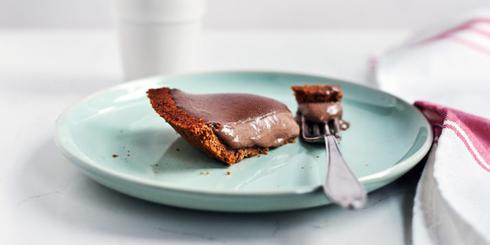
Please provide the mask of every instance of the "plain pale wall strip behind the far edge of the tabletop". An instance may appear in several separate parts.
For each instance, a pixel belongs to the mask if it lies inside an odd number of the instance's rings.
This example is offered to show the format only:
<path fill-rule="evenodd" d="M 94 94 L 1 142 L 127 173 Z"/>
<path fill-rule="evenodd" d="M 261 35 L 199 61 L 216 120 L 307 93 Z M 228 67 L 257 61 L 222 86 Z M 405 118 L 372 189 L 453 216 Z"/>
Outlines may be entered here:
<path fill-rule="evenodd" d="M 110 0 L 0 0 L 0 27 L 112 27 Z M 208 0 L 204 29 L 417 29 L 487 0 Z"/>

